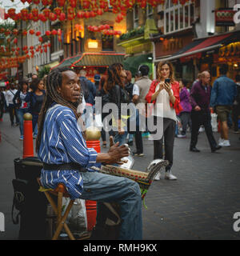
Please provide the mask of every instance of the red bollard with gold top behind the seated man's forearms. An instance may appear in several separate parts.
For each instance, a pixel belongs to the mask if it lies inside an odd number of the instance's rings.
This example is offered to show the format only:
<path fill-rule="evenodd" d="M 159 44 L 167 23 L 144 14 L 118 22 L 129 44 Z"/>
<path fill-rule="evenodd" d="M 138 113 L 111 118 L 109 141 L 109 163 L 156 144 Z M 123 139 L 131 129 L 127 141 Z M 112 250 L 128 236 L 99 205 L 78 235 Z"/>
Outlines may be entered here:
<path fill-rule="evenodd" d="M 94 148 L 98 153 L 101 152 L 101 146 L 99 139 L 101 138 L 101 132 L 97 127 L 89 127 L 86 129 L 86 146 L 88 148 Z M 93 230 L 96 224 L 97 217 L 97 202 L 86 200 L 86 217 L 87 217 L 87 230 Z"/>

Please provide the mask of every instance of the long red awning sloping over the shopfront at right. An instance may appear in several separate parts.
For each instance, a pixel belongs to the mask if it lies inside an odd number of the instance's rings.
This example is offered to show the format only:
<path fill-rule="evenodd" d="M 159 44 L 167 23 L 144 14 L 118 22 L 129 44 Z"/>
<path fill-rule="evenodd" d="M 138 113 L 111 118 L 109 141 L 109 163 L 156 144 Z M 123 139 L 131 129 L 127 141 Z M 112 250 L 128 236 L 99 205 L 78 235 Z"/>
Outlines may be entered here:
<path fill-rule="evenodd" d="M 186 61 L 190 58 L 201 58 L 202 52 L 206 52 L 209 50 L 215 50 L 220 48 L 222 45 L 227 44 L 229 42 L 236 42 L 239 40 L 238 33 L 229 33 L 229 34 L 221 34 L 217 36 L 213 36 L 210 38 L 201 38 L 191 42 L 189 45 L 179 50 L 177 53 L 173 54 L 169 58 L 159 58 L 155 60 L 155 62 L 159 61 L 171 61 L 176 58 L 181 58 L 182 61 Z"/>

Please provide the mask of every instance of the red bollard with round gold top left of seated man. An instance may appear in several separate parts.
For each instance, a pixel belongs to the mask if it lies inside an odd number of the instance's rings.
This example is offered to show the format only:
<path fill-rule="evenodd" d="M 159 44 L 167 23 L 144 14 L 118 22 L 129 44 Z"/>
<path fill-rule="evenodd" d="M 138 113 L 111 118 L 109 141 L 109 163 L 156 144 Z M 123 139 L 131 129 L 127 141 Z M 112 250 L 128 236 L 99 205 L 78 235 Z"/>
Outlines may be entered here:
<path fill-rule="evenodd" d="M 23 115 L 23 155 L 22 158 L 34 157 L 34 139 L 32 115 L 26 113 Z"/>

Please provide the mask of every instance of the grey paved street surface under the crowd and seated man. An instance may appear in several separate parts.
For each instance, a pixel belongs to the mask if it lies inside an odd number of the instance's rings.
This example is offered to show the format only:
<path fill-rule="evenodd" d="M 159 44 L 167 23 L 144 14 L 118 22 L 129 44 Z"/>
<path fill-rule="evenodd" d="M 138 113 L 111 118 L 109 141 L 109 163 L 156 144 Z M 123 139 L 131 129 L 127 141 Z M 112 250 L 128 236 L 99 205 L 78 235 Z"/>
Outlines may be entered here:
<path fill-rule="evenodd" d="M 19 226 L 11 221 L 11 182 L 14 158 L 22 158 L 23 143 L 19 141 L 19 128 L 10 126 L 8 114 L 0 122 L 0 130 L 0 212 L 5 214 L 5 232 L 0 232 L 0 239 L 18 239 Z M 218 133 L 214 137 L 218 140 Z M 147 209 L 142 206 L 143 239 L 240 239 L 240 231 L 234 231 L 234 213 L 240 213 L 239 137 L 230 130 L 231 146 L 218 153 L 210 152 L 204 132 L 198 137 L 200 153 L 189 151 L 190 134 L 175 139 L 172 173 L 178 180 L 165 180 L 162 175 L 150 186 L 145 199 Z M 135 158 L 134 170 L 146 170 L 153 160 L 153 142 L 147 138 L 143 142 L 145 156 Z M 240 228 L 240 223 L 235 226 Z"/>

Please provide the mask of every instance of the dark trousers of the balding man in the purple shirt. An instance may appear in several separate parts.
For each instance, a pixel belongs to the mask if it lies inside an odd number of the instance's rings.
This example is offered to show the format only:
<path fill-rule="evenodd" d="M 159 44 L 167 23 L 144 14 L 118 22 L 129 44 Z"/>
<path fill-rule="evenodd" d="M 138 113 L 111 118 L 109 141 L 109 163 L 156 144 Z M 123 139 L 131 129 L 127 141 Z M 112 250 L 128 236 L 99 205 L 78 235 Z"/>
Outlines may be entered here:
<path fill-rule="evenodd" d="M 198 130 L 200 126 L 204 126 L 206 131 L 206 137 L 210 144 L 211 150 L 213 150 L 217 146 L 217 142 L 215 141 L 212 126 L 211 126 L 211 116 L 210 111 L 192 111 L 191 112 L 191 120 L 192 120 L 192 132 L 191 132 L 191 141 L 190 148 L 194 148 L 198 143 Z"/>

